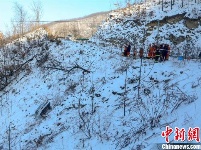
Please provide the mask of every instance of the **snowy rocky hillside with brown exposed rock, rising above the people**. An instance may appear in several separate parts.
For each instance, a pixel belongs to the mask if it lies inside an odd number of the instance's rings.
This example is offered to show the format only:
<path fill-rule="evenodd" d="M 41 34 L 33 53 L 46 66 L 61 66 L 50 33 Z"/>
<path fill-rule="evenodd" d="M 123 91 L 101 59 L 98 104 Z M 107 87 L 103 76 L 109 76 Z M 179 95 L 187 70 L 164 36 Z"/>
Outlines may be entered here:
<path fill-rule="evenodd" d="M 199 1 L 147 0 L 129 7 L 114 10 L 94 37 L 122 46 L 126 41 L 133 47 L 148 48 L 151 43 L 167 43 L 174 53 L 188 50 L 197 55 L 201 42 L 201 3 Z M 192 56 L 195 57 L 195 56 Z"/>

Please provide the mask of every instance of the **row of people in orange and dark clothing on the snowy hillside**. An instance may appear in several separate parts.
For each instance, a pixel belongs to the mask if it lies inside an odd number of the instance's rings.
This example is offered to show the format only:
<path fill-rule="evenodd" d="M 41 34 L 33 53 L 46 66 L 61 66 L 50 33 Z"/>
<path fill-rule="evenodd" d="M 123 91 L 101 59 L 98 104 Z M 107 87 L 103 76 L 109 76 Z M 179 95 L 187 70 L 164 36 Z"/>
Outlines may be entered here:
<path fill-rule="evenodd" d="M 130 43 L 127 43 L 124 46 L 124 56 L 130 56 L 130 51 L 131 51 L 131 45 Z M 137 53 L 139 53 L 140 58 L 144 58 L 144 49 L 140 48 L 139 52 L 137 50 L 133 50 L 133 57 L 137 57 Z M 156 44 L 150 44 L 148 47 L 148 59 L 154 59 L 155 62 L 158 61 L 165 61 L 169 59 L 169 54 L 170 54 L 170 46 L 168 44 L 161 44 L 157 46 Z"/>

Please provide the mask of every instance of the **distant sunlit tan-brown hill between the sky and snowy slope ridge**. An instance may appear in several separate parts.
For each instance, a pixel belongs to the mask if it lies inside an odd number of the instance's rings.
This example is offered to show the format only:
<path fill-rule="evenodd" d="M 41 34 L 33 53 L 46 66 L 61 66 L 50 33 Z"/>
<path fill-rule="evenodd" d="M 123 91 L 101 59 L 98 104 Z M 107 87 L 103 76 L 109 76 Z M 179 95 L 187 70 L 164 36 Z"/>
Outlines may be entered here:
<path fill-rule="evenodd" d="M 47 25 L 49 31 L 57 37 L 89 38 L 107 18 L 109 12 L 95 13 L 83 18 L 64 20 Z"/>

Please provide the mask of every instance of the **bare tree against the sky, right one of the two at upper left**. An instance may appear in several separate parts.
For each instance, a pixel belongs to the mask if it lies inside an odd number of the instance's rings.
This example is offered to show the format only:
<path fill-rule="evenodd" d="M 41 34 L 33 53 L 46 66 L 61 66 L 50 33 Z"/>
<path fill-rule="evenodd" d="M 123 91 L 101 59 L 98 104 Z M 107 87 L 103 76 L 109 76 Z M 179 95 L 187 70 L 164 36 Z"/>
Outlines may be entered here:
<path fill-rule="evenodd" d="M 34 0 L 31 5 L 31 10 L 33 12 L 35 27 L 37 28 L 40 25 L 40 21 L 43 15 L 43 5 L 40 0 Z"/>

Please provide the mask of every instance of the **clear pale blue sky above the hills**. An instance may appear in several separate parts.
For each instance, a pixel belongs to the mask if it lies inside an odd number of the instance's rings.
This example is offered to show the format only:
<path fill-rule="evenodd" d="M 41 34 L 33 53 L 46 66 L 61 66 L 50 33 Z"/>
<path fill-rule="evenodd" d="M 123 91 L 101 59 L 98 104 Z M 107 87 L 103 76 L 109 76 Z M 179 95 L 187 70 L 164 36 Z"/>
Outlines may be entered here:
<path fill-rule="evenodd" d="M 35 0 L 38 1 L 38 0 Z M 71 19 L 89 15 L 95 12 L 115 9 L 117 2 L 124 0 L 40 0 L 43 5 L 44 21 Z M 9 30 L 11 18 L 14 17 L 14 3 L 22 5 L 31 14 L 33 0 L 0 0 L 0 31 Z"/>

